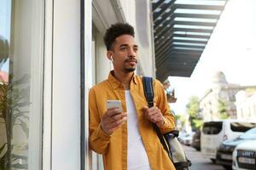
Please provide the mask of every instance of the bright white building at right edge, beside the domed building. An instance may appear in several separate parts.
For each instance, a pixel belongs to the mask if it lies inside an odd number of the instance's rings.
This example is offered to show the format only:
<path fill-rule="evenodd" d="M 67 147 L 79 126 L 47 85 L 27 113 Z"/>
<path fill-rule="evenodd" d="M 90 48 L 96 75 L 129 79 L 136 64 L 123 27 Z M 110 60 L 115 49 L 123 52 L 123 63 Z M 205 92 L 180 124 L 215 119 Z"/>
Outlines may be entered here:
<path fill-rule="evenodd" d="M 241 90 L 236 94 L 237 118 L 256 121 L 256 90 Z"/>

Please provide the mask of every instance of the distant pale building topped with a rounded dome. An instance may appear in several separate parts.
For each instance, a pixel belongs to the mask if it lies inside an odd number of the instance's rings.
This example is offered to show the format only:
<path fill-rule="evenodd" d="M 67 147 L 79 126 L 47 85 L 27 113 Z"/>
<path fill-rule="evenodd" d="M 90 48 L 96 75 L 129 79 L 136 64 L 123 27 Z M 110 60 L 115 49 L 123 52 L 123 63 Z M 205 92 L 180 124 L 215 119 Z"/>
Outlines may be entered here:
<path fill-rule="evenodd" d="M 206 94 L 200 99 L 200 111 L 204 121 L 219 120 L 218 105 L 222 101 L 227 106 L 227 113 L 230 118 L 236 118 L 236 93 L 247 88 L 256 88 L 256 86 L 241 86 L 227 82 L 224 73 L 218 71 L 212 80 L 212 88 L 208 89 Z"/>

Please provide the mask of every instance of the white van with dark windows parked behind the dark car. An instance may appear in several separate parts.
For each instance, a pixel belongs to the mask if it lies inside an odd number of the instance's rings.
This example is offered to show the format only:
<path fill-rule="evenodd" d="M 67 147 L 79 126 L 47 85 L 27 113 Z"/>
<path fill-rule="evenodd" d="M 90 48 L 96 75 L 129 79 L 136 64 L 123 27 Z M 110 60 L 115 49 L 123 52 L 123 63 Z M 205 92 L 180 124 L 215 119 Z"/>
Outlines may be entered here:
<path fill-rule="evenodd" d="M 236 139 L 248 129 L 256 127 L 256 122 L 224 120 L 204 122 L 201 128 L 201 154 L 213 162 L 219 145 L 227 139 Z"/>

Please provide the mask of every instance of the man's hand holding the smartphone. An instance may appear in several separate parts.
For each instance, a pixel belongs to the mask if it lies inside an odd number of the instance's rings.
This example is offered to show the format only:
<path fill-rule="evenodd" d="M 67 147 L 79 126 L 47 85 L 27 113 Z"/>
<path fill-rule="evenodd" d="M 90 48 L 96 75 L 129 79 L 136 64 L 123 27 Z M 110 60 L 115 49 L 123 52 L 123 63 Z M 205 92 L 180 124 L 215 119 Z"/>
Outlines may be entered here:
<path fill-rule="evenodd" d="M 103 116 L 101 126 L 105 133 L 112 134 L 127 120 L 127 113 L 120 113 L 118 108 L 109 109 Z"/>

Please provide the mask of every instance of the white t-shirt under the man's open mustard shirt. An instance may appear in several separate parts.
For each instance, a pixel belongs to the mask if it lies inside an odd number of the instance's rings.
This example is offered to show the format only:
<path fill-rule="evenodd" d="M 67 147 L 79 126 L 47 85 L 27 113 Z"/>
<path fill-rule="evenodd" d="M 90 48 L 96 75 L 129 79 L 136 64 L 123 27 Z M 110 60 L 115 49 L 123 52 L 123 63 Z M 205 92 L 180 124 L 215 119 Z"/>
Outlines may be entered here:
<path fill-rule="evenodd" d="M 125 103 L 128 116 L 127 168 L 128 170 L 150 170 L 143 139 L 138 130 L 137 111 L 130 90 L 125 90 Z"/>

